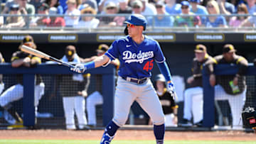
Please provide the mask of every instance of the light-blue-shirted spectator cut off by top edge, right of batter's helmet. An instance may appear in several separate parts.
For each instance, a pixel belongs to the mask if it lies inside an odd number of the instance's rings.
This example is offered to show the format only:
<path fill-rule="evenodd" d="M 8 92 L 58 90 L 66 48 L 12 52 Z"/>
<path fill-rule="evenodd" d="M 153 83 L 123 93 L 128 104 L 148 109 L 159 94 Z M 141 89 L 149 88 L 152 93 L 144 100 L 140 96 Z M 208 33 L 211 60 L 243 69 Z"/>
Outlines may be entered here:
<path fill-rule="evenodd" d="M 176 0 L 165 0 L 166 2 L 166 12 L 169 14 L 179 14 L 181 13 L 181 4 L 177 4 Z"/>

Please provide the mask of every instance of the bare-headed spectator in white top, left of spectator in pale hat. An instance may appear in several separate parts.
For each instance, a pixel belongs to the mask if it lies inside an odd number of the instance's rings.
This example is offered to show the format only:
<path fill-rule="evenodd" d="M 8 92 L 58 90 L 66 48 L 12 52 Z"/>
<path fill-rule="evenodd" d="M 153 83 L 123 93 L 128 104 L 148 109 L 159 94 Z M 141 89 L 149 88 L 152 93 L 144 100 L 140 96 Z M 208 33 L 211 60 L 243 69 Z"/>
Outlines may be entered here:
<path fill-rule="evenodd" d="M 80 11 L 77 9 L 77 1 L 75 0 L 68 0 L 68 9 L 65 12 L 65 25 L 67 27 L 73 27 L 78 25 L 79 18 L 80 18 Z"/>

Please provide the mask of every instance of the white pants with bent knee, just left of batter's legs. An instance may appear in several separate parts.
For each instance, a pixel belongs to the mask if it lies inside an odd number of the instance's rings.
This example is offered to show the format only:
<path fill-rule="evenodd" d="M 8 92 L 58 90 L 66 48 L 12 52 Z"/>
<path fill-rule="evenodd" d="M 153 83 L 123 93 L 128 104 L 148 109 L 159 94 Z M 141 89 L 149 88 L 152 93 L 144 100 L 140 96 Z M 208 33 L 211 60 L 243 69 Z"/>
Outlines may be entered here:
<path fill-rule="evenodd" d="M 86 110 L 88 116 L 88 125 L 96 126 L 97 118 L 96 118 L 96 105 L 103 104 L 102 95 L 100 92 L 93 92 L 86 99 Z"/>

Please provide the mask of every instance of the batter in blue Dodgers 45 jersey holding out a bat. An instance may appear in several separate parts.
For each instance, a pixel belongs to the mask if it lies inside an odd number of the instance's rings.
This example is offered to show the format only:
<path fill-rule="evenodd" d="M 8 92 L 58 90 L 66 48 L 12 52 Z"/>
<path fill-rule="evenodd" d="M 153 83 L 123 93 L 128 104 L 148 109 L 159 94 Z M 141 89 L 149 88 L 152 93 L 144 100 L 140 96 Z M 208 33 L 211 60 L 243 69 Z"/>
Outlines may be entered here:
<path fill-rule="evenodd" d="M 167 91 L 175 94 L 171 73 L 159 43 L 142 34 L 146 30 L 146 18 L 140 14 L 132 14 L 124 23 L 127 23 L 129 35 L 114 40 L 105 55 L 85 65 L 76 65 L 71 70 L 84 72 L 105 66 L 115 58 L 121 63 L 114 96 L 114 118 L 105 128 L 101 144 L 111 142 L 117 129 L 127 121 L 129 109 L 134 101 L 151 117 L 156 143 L 164 143 L 164 112 L 149 77 L 155 61 L 167 81 Z"/>

